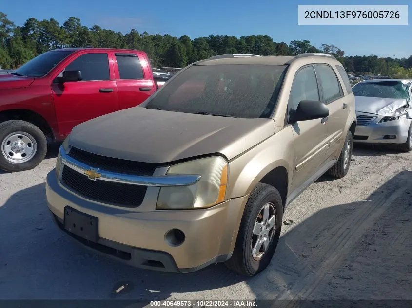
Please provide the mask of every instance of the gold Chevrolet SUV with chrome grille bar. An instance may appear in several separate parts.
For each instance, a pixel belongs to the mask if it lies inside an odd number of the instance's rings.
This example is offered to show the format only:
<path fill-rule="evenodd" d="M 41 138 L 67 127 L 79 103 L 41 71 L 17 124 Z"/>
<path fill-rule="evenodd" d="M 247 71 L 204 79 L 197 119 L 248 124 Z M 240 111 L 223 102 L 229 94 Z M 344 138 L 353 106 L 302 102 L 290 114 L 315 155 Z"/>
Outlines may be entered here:
<path fill-rule="evenodd" d="M 266 268 L 286 206 L 346 175 L 356 127 L 331 55 L 221 55 L 189 65 L 138 107 L 78 125 L 47 175 L 63 231 L 127 264 L 193 272 Z"/>

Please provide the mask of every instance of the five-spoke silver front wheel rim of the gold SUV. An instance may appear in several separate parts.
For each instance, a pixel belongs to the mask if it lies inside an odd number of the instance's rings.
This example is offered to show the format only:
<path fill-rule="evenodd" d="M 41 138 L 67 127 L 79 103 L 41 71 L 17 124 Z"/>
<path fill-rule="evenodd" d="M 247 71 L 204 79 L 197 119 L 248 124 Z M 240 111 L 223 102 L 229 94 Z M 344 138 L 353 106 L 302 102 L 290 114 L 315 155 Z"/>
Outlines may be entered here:
<path fill-rule="evenodd" d="M 252 234 L 252 256 L 259 261 L 268 251 L 275 234 L 275 206 L 267 203 L 262 206 L 256 217 Z"/>

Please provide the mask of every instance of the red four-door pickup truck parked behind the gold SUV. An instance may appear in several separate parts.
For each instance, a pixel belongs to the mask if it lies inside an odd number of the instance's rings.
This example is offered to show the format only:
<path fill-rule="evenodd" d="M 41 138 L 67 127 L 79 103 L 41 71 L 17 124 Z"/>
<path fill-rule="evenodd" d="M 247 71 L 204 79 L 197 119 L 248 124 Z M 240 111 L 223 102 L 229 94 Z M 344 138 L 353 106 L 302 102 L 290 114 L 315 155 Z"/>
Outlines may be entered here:
<path fill-rule="evenodd" d="M 0 75 L 0 169 L 34 168 L 46 137 L 61 141 L 84 121 L 137 106 L 163 83 L 144 52 L 123 49 L 52 50 Z"/>

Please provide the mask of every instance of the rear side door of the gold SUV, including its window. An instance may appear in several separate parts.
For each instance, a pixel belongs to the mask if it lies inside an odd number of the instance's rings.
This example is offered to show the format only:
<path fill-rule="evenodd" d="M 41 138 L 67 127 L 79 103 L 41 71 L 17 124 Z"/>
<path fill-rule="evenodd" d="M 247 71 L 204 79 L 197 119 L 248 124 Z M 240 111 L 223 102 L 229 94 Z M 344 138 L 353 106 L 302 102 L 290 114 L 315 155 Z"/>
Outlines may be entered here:
<path fill-rule="evenodd" d="M 316 75 L 319 80 L 322 102 L 329 109 L 328 121 L 325 123 L 327 130 L 328 150 L 325 159 L 331 156 L 337 158 L 340 154 L 344 129 L 349 116 L 349 97 L 344 96 L 342 85 L 334 69 L 328 64 L 316 64 Z M 338 72 L 339 73 L 339 72 Z"/>

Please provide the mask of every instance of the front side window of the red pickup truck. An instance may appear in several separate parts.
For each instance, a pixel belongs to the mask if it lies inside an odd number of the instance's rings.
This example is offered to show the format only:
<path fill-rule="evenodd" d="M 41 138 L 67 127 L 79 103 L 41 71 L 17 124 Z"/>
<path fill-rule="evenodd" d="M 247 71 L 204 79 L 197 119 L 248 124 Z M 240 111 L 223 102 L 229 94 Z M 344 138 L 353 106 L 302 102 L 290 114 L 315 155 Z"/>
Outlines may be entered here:
<path fill-rule="evenodd" d="M 66 71 L 81 71 L 82 81 L 110 80 L 106 53 L 82 54 L 66 66 Z"/>

